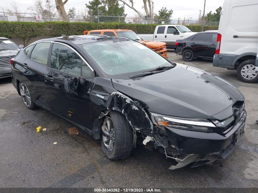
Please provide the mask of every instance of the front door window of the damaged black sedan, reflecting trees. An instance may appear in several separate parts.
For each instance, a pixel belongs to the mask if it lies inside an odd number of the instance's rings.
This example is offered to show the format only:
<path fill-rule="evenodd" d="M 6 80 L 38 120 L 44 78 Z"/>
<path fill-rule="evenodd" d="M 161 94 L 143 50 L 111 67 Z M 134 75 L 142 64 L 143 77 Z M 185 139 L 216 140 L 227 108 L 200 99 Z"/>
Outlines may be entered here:
<path fill-rule="evenodd" d="M 53 44 L 50 64 L 53 69 L 75 76 L 81 75 L 81 57 L 65 45 Z"/>

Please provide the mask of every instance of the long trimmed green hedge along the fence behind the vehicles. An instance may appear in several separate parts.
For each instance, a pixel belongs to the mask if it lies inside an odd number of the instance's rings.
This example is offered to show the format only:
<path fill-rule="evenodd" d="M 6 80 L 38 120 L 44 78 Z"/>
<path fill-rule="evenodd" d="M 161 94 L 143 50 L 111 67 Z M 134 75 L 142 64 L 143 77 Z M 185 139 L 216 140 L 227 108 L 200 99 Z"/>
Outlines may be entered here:
<path fill-rule="evenodd" d="M 130 23 L 85 23 L 85 22 L 0 22 L 0 37 L 26 38 L 38 36 L 83 35 L 84 30 L 130 29 L 137 34 L 154 33 L 156 24 Z M 190 30 L 200 32 L 202 26 L 187 26 Z M 204 30 L 217 30 L 218 26 L 204 26 Z"/>

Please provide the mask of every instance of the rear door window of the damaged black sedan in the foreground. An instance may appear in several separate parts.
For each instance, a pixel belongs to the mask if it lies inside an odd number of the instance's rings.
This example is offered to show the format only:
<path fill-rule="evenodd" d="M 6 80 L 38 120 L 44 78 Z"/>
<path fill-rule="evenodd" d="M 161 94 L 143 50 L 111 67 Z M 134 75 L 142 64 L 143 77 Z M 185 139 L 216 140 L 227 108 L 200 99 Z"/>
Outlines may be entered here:
<path fill-rule="evenodd" d="M 47 65 L 50 42 L 37 43 L 31 52 L 31 60 Z"/>

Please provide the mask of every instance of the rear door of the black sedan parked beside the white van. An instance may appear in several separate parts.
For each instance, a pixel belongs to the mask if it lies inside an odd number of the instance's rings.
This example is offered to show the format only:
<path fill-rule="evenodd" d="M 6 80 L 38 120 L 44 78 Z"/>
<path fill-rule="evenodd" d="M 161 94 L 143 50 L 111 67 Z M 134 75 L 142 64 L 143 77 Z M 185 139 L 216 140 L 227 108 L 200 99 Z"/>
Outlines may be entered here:
<path fill-rule="evenodd" d="M 200 33 L 190 41 L 196 57 L 209 57 L 210 38 L 210 33 Z"/>

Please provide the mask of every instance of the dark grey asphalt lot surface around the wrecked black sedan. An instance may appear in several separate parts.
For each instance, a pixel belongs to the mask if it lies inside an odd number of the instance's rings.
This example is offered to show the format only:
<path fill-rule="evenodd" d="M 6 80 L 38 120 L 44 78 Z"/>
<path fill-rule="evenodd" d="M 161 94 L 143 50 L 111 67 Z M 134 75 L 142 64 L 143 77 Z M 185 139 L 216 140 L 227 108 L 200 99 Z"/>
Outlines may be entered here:
<path fill-rule="evenodd" d="M 226 79 L 245 95 L 245 134 L 226 160 L 168 170 L 176 162 L 139 144 L 127 159 L 109 160 L 83 130 L 69 132 L 75 126 L 59 116 L 27 109 L 8 78 L 0 80 L 0 187 L 258 187 L 258 83 L 243 83 L 212 60 L 185 62 L 173 49 L 168 56 Z M 46 130 L 37 133 L 38 126 Z"/>

